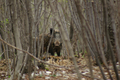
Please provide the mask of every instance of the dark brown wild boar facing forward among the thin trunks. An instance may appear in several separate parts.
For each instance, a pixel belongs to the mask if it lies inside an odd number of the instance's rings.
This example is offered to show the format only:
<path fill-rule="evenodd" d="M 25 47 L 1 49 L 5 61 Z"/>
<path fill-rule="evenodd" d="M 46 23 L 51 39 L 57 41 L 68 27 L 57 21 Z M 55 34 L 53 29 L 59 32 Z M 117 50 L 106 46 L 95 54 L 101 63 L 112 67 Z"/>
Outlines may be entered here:
<path fill-rule="evenodd" d="M 41 42 L 43 34 L 39 36 L 39 41 Z M 50 33 L 44 34 L 44 52 L 47 52 L 47 47 L 50 42 L 50 39 L 52 37 L 50 46 L 49 46 L 49 51 L 48 53 L 51 53 L 52 56 L 54 56 L 54 53 L 56 52 L 58 56 L 60 56 L 60 51 L 62 49 L 62 41 L 61 41 L 61 36 L 59 31 L 55 31 L 53 28 L 50 28 Z M 38 40 L 38 38 L 36 39 Z M 38 41 L 37 41 L 38 42 Z M 37 48 L 39 49 L 39 48 Z M 42 52 L 42 50 L 41 50 Z M 38 57 L 38 52 L 37 52 L 37 57 Z"/>

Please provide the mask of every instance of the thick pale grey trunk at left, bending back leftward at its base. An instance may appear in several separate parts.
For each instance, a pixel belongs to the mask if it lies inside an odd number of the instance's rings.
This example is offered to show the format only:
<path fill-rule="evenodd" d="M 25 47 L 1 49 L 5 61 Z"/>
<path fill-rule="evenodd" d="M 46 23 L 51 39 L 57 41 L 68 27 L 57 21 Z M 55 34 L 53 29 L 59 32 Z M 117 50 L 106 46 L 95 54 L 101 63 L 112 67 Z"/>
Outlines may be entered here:
<path fill-rule="evenodd" d="M 20 41 L 20 30 L 18 28 L 18 23 L 17 23 L 18 18 L 17 18 L 16 0 L 14 0 L 13 6 L 14 6 L 14 8 L 13 8 L 14 13 L 13 13 L 12 21 L 13 21 L 13 33 L 14 33 L 14 37 L 15 37 L 15 45 L 16 45 L 17 48 L 22 49 L 22 45 L 21 45 L 21 41 Z M 16 80 L 19 73 L 20 73 L 22 63 L 23 63 L 22 62 L 23 61 L 23 52 L 17 50 L 17 57 L 18 57 L 18 60 L 17 60 L 17 65 L 15 67 L 15 72 L 14 72 L 14 75 L 12 75 L 10 77 L 10 80 Z"/>

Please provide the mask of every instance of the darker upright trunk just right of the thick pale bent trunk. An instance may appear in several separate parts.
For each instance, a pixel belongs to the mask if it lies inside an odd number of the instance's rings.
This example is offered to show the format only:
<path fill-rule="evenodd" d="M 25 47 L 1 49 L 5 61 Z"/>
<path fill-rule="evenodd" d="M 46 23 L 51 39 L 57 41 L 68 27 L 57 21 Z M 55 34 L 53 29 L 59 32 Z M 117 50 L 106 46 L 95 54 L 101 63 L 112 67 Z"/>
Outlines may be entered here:
<path fill-rule="evenodd" d="M 25 0 L 26 9 L 27 9 L 27 15 L 28 15 L 28 26 L 29 26 L 29 52 L 32 53 L 32 27 L 34 27 L 34 19 L 32 14 L 32 7 L 31 7 L 31 1 Z M 27 26 L 27 27 L 28 27 Z M 30 75 L 32 73 L 32 57 L 28 56 L 28 76 L 30 79 Z M 31 80 L 31 79 L 30 79 Z"/>

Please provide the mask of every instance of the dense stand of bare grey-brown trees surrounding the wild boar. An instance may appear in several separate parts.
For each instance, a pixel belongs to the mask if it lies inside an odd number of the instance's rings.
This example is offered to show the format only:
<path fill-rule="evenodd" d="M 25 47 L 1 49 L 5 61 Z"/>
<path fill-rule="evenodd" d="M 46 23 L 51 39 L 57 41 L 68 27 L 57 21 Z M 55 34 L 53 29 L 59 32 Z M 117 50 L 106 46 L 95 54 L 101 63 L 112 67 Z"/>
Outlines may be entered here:
<path fill-rule="evenodd" d="M 4 78 L 21 80 L 26 67 L 31 79 L 32 67 L 37 61 L 66 69 L 34 56 L 36 42 L 33 37 L 48 33 L 54 27 L 62 36 L 61 59 L 73 62 L 71 70 L 77 73 L 75 79 L 83 79 L 79 71 L 82 64 L 77 61 L 81 59 L 89 69 L 88 80 L 95 77 L 119 80 L 119 5 L 119 0 L 0 0 L 0 64 L 6 61 L 4 72 L 7 72 Z M 93 72 L 93 63 L 99 67 L 100 78 Z"/>

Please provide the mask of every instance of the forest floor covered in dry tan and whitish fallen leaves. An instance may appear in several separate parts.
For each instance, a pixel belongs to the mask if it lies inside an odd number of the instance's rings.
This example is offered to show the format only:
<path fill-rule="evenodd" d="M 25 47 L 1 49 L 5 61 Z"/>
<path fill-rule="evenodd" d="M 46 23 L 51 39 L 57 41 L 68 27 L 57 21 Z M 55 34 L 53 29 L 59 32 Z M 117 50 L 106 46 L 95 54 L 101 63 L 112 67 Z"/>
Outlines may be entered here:
<path fill-rule="evenodd" d="M 93 80 L 90 75 L 87 58 L 81 57 L 81 58 L 76 58 L 76 60 L 79 66 L 79 72 L 81 73 L 81 78 L 82 78 L 81 80 Z M 37 69 L 35 74 L 34 73 L 31 74 L 31 77 L 35 75 L 34 80 L 78 80 L 77 73 L 75 73 L 74 64 L 70 59 L 62 59 L 61 57 L 59 58 L 54 57 L 49 59 L 47 62 L 57 66 L 64 66 L 64 68 L 45 65 L 46 66 L 45 69 Z M 109 64 L 109 68 L 113 80 L 116 80 L 112 64 Z M 101 80 L 102 75 L 99 66 L 95 65 L 94 61 L 92 61 L 92 69 L 93 69 L 94 80 Z M 102 69 L 104 71 L 107 80 L 110 80 L 107 69 L 105 69 L 103 65 L 102 65 Z M 1 79 L 7 80 L 7 78 L 9 77 L 6 76 L 7 75 L 6 70 L 7 70 L 6 60 L 0 61 L 0 80 Z M 29 80 L 27 74 L 23 75 L 23 80 Z"/>

